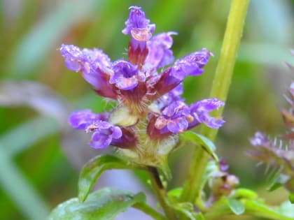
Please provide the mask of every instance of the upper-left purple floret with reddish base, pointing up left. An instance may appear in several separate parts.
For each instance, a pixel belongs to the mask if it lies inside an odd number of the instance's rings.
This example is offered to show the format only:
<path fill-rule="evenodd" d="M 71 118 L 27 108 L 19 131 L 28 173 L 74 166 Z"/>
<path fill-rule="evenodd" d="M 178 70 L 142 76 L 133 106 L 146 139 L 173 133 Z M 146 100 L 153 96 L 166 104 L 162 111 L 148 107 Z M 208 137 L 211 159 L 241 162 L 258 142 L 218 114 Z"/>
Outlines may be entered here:
<path fill-rule="evenodd" d="M 65 65 L 69 70 L 80 72 L 83 78 L 90 83 L 97 94 L 116 98 L 116 91 L 109 85 L 109 77 L 113 74 L 109 57 L 102 50 L 80 50 L 74 45 L 60 47 L 60 52 L 65 58 Z"/>

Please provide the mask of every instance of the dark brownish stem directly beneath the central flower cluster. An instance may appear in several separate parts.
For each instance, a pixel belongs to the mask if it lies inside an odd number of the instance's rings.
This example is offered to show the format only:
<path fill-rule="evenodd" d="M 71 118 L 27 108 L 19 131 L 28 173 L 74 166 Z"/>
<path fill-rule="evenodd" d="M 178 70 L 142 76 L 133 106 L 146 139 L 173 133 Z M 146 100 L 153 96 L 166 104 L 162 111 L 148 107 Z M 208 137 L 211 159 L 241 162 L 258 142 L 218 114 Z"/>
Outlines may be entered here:
<path fill-rule="evenodd" d="M 162 185 L 162 182 L 160 180 L 158 169 L 149 166 L 148 173 L 151 179 L 153 190 L 155 191 L 155 195 L 158 198 L 158 201 L 162 206 L 162 209 L 164 210 L 167 219 L 176 220 L 176 213 L 174 212 L 174 210 L 172 210 L 171 207 L 169 207 L 169 205 L 167 205 L 167 202 L 165 201 L 165 198 L 167 198 L 167 193 L 165 191 L 165 187 Z"/>

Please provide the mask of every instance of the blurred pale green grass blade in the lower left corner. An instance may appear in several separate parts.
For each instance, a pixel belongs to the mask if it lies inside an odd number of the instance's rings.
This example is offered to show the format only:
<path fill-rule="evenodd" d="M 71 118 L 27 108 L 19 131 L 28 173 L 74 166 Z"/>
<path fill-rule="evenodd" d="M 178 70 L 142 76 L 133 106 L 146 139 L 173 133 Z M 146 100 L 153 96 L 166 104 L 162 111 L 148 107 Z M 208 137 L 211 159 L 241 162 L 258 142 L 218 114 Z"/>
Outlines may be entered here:
<path fill-rule="evenodd" d="M 48 207 L 40 198 L 27 179 L 15 167 L 10 158 L 0 145 L 0 185 L 8 196 L 18 206 L 20 211 L 31 220 L 45 219 L 48 215 Z"/>

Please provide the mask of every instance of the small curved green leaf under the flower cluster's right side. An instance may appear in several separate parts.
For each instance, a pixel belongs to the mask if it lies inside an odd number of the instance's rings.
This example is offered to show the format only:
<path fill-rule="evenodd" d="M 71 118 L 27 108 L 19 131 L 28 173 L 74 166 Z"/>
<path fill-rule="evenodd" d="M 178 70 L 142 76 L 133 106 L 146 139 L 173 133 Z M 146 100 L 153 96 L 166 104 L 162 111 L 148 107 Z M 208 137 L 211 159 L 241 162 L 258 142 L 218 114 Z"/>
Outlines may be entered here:
<path fill-rule="evenodd" d="M 216 146 L 211 140 L 195 133 L 193 131 L 186 131 L 179 135 L 181 144 L 185 142 L 193 142 L 193 144 L 202 147 L 215 161 L 218 161 L 218 156 L 216 155 Z"/>

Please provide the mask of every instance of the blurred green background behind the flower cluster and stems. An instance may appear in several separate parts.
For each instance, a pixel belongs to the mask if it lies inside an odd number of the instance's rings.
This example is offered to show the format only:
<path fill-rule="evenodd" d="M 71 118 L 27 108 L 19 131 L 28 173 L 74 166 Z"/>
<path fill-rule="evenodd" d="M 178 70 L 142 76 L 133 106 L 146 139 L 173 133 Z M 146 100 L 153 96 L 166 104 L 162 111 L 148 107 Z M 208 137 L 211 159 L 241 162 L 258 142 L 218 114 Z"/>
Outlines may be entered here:
<path fill-rule="evenodd" d="M 126 57 L 129 39 L 121 30 L 132 5 L 145 10 L 156 24 L 155 33 L 179 33 L 172 47 L 176 58 L 202 47 L 214 52 L 204 74 L 184 82 L 188 103 L 207 98 L 229 0 L 1 1 L 0 219 L 45 219 L 52 207 L 76 196 L 80 166 L 100 152 L 69 128 L 66 117 L 73 109 L 103 111 L 111 104 L 64 67 L 58 48 L 62 43 L 99 47 L 112 60 Z M 251 1 L 225 107 L 226 124 L 216 142 L 241 186 L 256 189 L 272 205 L 286 200 L 286 193 L 267 193 L 270 174 L 244 151 L 257 130 L 271 136 L 284 132 L 279 108 L 288 107 L 283 94 L 294 79 L 284 64 L 294 64 L 289 52 L 293 27 L 294 1 Z M 169 187 L 182 184 L 191 150 L 170 157 L 174 178 Z M 146 185 L 144 175 L 136 175 Z"/>

